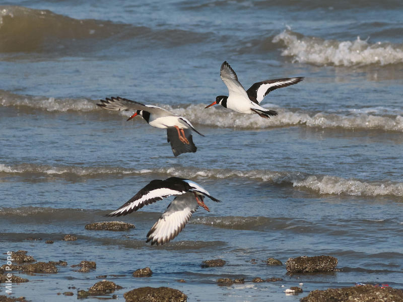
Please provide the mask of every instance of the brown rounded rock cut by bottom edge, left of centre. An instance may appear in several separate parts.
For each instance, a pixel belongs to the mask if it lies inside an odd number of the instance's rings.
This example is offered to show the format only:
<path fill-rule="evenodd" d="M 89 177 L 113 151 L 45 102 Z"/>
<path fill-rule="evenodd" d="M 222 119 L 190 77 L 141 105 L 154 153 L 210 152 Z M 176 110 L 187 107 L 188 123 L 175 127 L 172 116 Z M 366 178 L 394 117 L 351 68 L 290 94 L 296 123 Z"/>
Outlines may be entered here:
<path fill-rule="evenodd" d="M 140 287 L 123 294 L 126 302 L 186 302 L 187 296 L 169 287 Z"/>

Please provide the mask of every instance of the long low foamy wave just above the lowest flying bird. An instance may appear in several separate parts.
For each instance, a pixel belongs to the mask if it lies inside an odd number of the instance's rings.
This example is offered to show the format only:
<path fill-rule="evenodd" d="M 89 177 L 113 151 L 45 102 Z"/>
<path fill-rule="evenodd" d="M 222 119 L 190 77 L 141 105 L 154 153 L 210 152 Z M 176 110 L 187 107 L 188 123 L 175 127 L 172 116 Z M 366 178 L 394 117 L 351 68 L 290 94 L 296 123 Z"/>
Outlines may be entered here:
<path fill-rule="evenodd" d="M 403 183 L 391 181 L 367 182 L 357 179 L 346 179 L 329 175 L 309 175 L 300 172 L 282 172 L 270 170 L 231 170 L 231 169 L 197 169 L 194 167 L 167 167 L 156 169 L 129 169 L 120 167 L 74 167 L 48 165 L 0 164 L 0 175 L 18 176 L 49 176 L 70 177 L 76 175 L 83 178 L 99 178 L 117 175 L 150 175 L 158 174 L 162 177 L 177 176 L 188 179 L 231 179 L 241 178 L 277 185 L 291 185 L 301 190 L 307 190 L 319 195 L 350 195 L 350 196 L 403 196 Z"/>

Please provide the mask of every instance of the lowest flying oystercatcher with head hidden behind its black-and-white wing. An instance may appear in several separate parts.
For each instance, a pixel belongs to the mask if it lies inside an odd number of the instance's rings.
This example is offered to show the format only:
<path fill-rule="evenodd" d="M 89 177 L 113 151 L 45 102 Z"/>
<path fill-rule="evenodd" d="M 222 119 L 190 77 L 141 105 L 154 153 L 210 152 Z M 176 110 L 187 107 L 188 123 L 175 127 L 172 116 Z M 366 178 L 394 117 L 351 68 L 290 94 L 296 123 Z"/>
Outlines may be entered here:
<path fill-rule="evenodd" d="M 126 215 L 137 211 L 144 205 L 171 195 L 177 197 L 168 205 L 166 211 L 147 234 L 147 242 L 151 241 L 152 245 L 165 244 L 175 238 L 182 231 L 198 206 L 209 211 L 203 200 L 205 196 L 219 202 L 199 184 L 184 178 L 170 177 L 165 180 L 156 179 L 151 181 L 125 204 L 106 216 Z"/>

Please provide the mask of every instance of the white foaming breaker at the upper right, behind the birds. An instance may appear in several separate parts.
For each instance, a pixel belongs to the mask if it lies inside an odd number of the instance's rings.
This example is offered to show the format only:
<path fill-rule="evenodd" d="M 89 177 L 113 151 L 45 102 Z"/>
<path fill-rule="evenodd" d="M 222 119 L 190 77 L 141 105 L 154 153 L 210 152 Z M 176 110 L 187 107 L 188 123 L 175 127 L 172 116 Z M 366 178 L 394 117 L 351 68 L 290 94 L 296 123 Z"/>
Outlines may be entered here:
<path fill-rule="evenodd" d="M 314 65 L 355 66 L 403 63 L 403 45 L 377 42 L 370 44 L 357 37 L 353 41 L 324 40 L 284 30 L 273 38 L 282 42 L 283 56 L 293 57 L 293 62 Z"/>

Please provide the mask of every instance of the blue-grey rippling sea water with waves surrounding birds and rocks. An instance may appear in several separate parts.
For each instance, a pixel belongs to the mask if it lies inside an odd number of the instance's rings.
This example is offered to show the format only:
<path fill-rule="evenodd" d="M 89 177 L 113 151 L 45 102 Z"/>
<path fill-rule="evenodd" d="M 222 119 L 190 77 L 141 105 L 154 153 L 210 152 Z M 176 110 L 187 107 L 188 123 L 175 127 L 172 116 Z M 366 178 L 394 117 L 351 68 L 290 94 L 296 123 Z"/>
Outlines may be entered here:
<path fill-rule="evenodd" d="M 119 301 L 141 286 L 200 301 L 298 301 L 356 282 L 403 287 L 401 14 L 397 1 L 3 3 L 0 247 L 69 264 L 21 274 L 30 282 L 14 284 L 13 295 L 71 300 L 56 293 L 105 274 L 124 287 Z M 245 88 L 305 80 L 266 97 L 263 107 L 279 112 L 270 120 L 204 109 L 227 93 L 224 60 Z M 110 96 L 172 110 L 206 137 L 194 134 L 197 152 L 175 158 L 165 131 L 95 105 Z M 85 230 L 170 176 L 222 202 L 207 200 L 211 211 L 198 209 L 165 246 L 145 240 L 172 198 L 119 217 L 131 231 Z M 65 234 L 79 239 L 63 242 Z M 339 270 L 288 275 L 264 263 L 301 255 L 337 257 Z M 201 268 L 214 258 L 227 264 Z M 70 267 L 82 260 L 96 270 Z M 131 276 L 146 266 L 151 278 Z M 251 283 L 256 276 L 284 280 Z M 247 282 L 217 286 L 222 277 Z M 304 292 L 286 296 L 299 283 Z"/>

